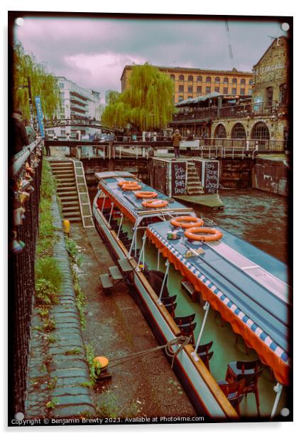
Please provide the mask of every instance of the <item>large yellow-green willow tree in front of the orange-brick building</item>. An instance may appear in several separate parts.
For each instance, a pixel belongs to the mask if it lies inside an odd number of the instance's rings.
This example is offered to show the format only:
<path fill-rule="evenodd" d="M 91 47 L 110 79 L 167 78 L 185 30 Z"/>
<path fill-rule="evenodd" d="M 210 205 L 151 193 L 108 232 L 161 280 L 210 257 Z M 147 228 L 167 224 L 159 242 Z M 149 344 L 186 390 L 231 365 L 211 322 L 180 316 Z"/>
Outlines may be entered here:
<path fill-rule="evenodd" d="M 135 65 L 129 88 L 109 102 L 103 122 L 118 128 L 131 124 L 140 131 L 166 127 L 174 110 L 173 92 L 173 80 L 168 75 L 148 63 Z"/>

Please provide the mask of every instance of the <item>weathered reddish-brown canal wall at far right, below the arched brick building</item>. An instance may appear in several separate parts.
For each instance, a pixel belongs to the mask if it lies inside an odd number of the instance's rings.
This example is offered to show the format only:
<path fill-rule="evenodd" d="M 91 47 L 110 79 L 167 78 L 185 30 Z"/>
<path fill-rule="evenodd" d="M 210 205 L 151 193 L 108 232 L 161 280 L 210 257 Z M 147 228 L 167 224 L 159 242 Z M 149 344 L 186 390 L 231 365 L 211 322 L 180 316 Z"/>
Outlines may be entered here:
<path fill-rule="evenodd" d="M 252 188 L 288 196 L 290 194 L 288 162 L 280 158 L 256 158 L 252 171 Z"/>

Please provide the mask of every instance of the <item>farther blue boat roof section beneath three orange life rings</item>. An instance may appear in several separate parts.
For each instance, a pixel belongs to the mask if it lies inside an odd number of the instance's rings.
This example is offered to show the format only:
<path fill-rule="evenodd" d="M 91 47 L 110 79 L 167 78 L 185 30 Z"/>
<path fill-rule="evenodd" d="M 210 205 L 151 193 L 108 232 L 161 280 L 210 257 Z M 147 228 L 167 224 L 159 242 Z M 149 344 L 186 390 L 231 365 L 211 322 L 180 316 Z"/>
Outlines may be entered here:
<path fill-rule="evenodd" d="M 192 208 L 175 201 L 173 198 L 161 193 L 155 188 L 147 186 L 138 178 L 129 172 L 99 172 L 95 173 L 99 178 L 99 188 L 114 201 L 115 205 L 120 208 L 134 223 L 140 223 L 142 218 L 160 216 L 160 220 L 165 215 L 195 215 Z M 119 186 L 119 181 L 138 181 L 141 185 L 139 191 L 153 191 L 158 194 L 158 200 L 168 201 L 168 205 L 163 208 L 146 208 L 143 207 L 144 199 L 136 198 L 133 191 L 123 191 Z"/>

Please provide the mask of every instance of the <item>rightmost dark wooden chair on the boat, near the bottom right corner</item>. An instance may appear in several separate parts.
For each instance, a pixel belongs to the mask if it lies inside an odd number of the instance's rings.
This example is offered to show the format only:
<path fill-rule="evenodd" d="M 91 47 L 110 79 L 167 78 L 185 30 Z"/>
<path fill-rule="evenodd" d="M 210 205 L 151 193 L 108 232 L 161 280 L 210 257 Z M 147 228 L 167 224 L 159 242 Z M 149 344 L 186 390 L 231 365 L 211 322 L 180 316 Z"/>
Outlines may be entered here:
<path fill-rule="evenodd" d="M 258 379 L 263 373 L 263 364 L 261 360 L 238 360 L 237 362 L 231 362 L 227 365 L 225 380 L 229 383 L 239 382 L 239 380 L 245 379 L 246 385 L 244 388 L 244 395 L 248 395 L 250 392 L 255 394 L 256 407 L 258 416 L 259 412 L 259 393 L 258 393 Z"/>

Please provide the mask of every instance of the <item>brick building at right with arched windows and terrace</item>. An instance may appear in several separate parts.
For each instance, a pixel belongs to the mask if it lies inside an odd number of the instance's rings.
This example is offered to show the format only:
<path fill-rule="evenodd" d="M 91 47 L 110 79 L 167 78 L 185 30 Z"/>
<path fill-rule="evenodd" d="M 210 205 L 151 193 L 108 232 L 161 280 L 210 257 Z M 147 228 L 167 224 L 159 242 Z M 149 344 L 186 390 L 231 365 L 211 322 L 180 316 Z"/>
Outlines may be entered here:
<path fill-rule="evenodd" d="M 288 139 L 290 117 L 290 50 L 288 39 L 275 38 L 258 63 L 253 66 L 251 99 L 236 99 L 213 108 L 188 108 L 174 114 L 172 127 L 182 134 L 187 129 L 196 137 L 243 139 L 259 146 L 282 144 Z M 238 142 L 237 142 L 238 143 Z M 241 144 L 241 141 L 239 141 Z"/>

